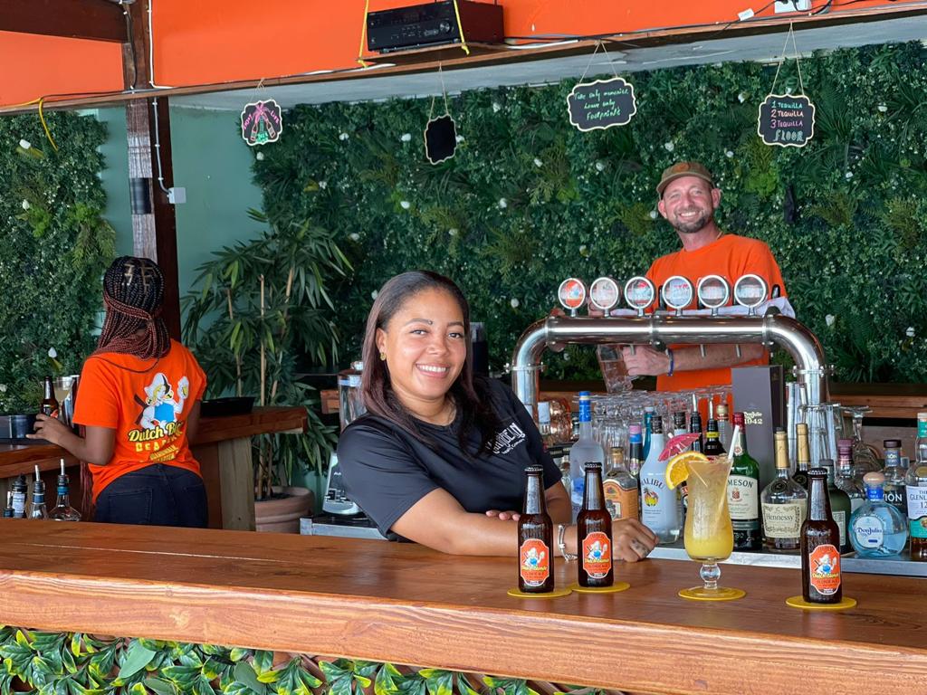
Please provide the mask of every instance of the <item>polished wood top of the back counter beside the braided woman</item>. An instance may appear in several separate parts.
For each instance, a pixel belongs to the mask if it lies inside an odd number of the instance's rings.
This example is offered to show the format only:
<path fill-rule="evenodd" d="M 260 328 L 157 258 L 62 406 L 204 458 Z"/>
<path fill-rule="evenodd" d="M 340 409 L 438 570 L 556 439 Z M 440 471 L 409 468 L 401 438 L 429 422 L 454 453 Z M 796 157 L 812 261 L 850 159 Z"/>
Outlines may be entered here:
<path fill-rule="evenodd" d="M 305 408 L 287 407 L 255 408 L 248 415 L 202 418 L 193 446 L 272 432 L 304 432 L 307 419 Z M 60 459 L 77 463 L 70 453 L 54 444 L 0 444 L 0 477 L 32 473 L 36 464 L 40 470 L 50 471 L 58 467 Z"/>

